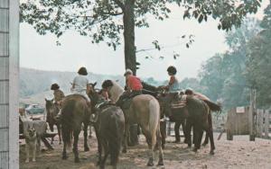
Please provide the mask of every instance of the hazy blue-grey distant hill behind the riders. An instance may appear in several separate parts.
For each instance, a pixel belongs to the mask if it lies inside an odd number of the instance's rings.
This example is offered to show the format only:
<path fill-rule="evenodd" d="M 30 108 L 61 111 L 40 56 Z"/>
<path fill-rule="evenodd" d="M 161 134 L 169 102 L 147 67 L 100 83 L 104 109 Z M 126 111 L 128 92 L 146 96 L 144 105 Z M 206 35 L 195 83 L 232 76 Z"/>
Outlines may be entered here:
<path fill-rule="evenodd" d="M 44 71 L 32 68 L 20 68 L 20 102 L 25 103 L 43 103 L 44 98 L 51 99 L 51 84 L 58 83 L 65 94 L 70 93 L 70 83 L 77 76 L 76 72 Z M 117 80 L 122 86 L 125 85 L 124 76 L 108 76 L 89 73 L 87 76 L 89 82 L 97 82 L 100 88 L 102 82 L 106 79 Z M 145 78 L 145 82 L 159 85 L 164 84 L 157 82 L 154 78 Z"/>

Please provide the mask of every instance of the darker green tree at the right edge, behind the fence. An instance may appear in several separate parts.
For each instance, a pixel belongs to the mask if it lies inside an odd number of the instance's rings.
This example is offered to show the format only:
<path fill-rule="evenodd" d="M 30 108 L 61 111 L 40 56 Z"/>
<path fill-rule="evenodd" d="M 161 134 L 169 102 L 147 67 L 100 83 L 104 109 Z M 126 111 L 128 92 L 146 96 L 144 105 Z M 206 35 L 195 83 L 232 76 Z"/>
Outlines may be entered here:
<path fill-rule="evenodd" d="M 269 108 L 271 102 L 271 4 L 265 9 L 260 23 L 264 29 L 249 41 L 247 80 L 249 87 L 257 89 L 257 106 Z"/>

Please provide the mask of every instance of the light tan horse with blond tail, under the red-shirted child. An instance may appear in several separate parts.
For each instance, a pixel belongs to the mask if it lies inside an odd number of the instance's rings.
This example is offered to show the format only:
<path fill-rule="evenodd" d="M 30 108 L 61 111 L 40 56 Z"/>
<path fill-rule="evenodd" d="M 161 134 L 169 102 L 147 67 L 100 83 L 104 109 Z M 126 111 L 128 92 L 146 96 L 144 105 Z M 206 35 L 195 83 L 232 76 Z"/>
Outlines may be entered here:
<path fill-rule="evenodd" d="M 110 80 L 109 80 L 110 81 Z M 111 97 L 119 96 L 120 93 L 117 91 L 123 91 L 120 85 L 115 83 L 108 83 L 108 80 L 104 81 L 102 86 L 107 88 L 107 92 Z M 122 89 L 122 90 L 117 90 Z M 154 147 L 157 143 L 159 149 L 159 160 L 157 165 L 164 165 L 164 153 L 161 145 L 161 132 L 160 132 L 160 105 L 159 102 L 150 94 L 136 95 L 129 106 L 124 109 L 126 127 L 125 127 L 125 138 L 124 138 L 124 149 L 123 153 L 126 153 L 126 137 L 129 136 L 129 124 L 139 124 L 145 135 L 146 142 L 148 144 L 150 156 L 147 165 L 154 165 Z"/>

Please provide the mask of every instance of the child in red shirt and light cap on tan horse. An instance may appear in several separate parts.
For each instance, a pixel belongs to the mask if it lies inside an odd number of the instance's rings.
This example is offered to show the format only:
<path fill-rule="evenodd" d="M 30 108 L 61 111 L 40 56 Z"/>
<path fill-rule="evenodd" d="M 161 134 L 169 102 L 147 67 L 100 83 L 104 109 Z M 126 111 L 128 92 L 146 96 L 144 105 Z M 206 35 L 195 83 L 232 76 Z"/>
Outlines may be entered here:
<path fill-rule="evenodd" d="M 126 76 L 126 92 L 123 93 L 117 101 L 117 105 L 120 106 L 126 99 L 133 98 L 136 95 L 141 94 L 143 88 L 141 80 L 133 75 L 133 71 L 131 69 L 126 69 L 124 76 Z"/>

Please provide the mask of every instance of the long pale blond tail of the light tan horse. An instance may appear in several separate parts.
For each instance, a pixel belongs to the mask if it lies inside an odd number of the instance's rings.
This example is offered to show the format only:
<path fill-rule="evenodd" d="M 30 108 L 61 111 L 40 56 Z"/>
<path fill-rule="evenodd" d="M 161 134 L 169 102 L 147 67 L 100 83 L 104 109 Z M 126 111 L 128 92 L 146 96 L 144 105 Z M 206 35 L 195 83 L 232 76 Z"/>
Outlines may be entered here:
<path fill-rule="evenodd" d="M 159 102 L 155 99 L 152 99 L 149 102 L 149 110 L 150 110 L 150 116 L 149 116 L 149 129 L 150 134 L 152 138 L 154 138 L 153 144 L 156 143 L 156 130 L 159 128 L 159 120 L 160 120 L 160 106 Z"/>

